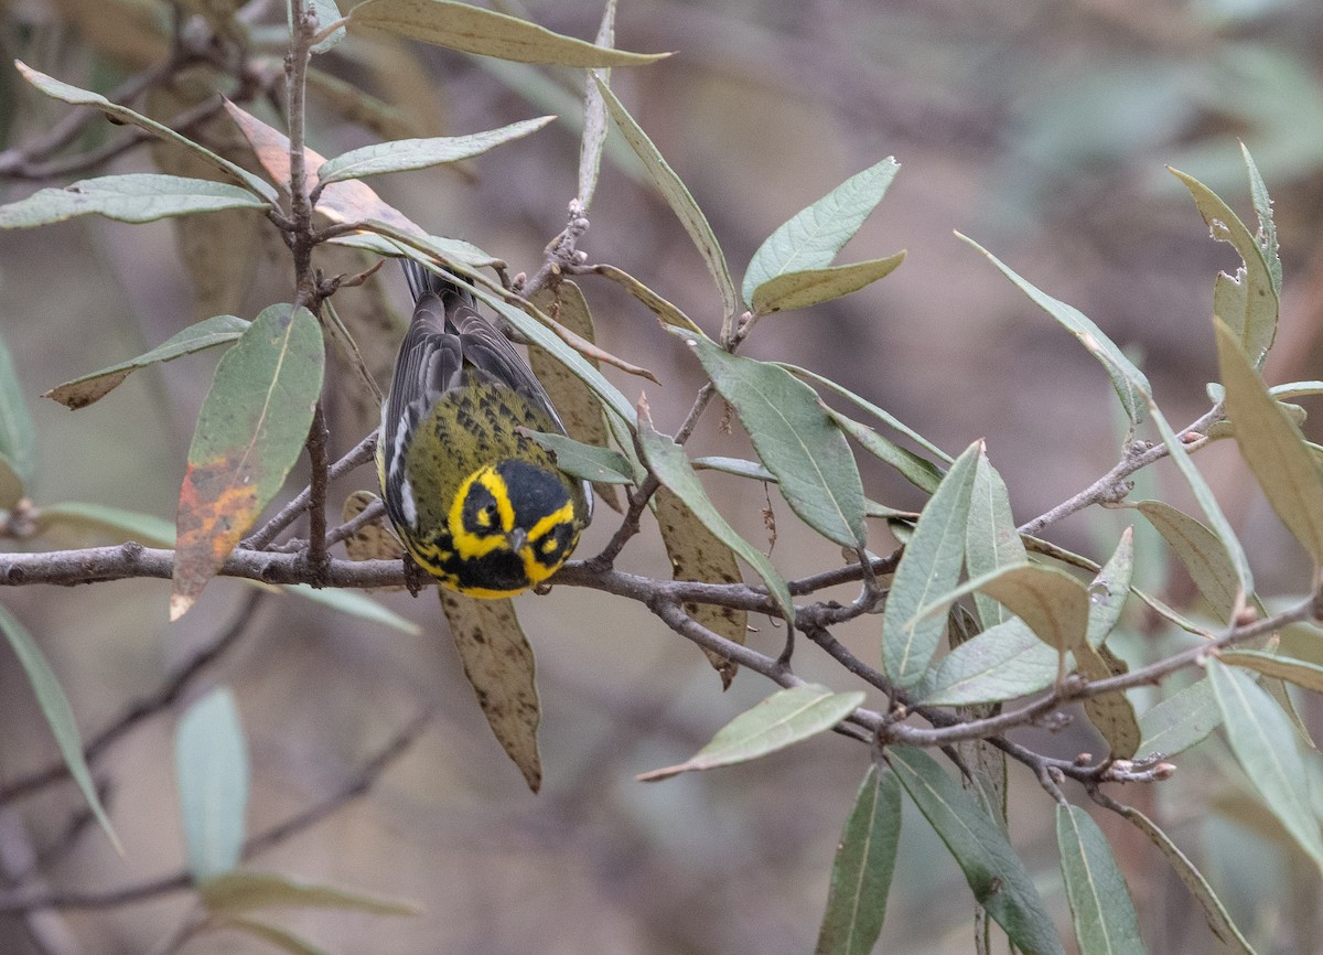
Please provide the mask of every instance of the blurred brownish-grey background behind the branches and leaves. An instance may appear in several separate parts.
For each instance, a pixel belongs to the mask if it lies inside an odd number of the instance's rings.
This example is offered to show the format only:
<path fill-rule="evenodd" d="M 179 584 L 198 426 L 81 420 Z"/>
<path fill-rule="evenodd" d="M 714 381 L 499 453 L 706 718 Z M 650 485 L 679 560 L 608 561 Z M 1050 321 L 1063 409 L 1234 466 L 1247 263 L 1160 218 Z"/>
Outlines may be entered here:
<path fill-rule="evenodd" d="M 270 7 L 258 22 L 283 22 L 282 5 Z M 602 12 L 595 0 L 501 8 L 579 37 L 597 32 Z M 168 54 L 169 22 L 171 9 L 152 0 L 9 0 L 0 4 L 0 58 L 20 57 L 75 85 L 111 90 Z M 261 45 L 274 29 L 253 32 L 259 71 L 280 69 L 275 48 Z M 1316 3 L 622 0 L 617 42 L 676 52 L 654 66 L 614 70 L 613 87 L 705 210 L 737 282 L 762 239 L 792 213 L 885 156 L 900 160 L 889 194 L 843 261 L 905 249 L 901 269 L 831 306 L 765 319 L 746 352 L 833 377 L 953 454 L 986 438 L 1019 521 L 1115 463 L 1122 415 L 1097 362 L 953 230 L 1089 315 L 1142 362 L 1179 427 L 1208 406 L 1204 382 L 1216 374 L 1212 282 L 1238 261 L 1209 239 L 1188 192 L 1164 167 L 1216 189 L 1253 228 L 1237 144 L 1244 140 L 1275 200 L 1286 275 L 1267 378 L 1323 377 L 1323 7 Z M 324 79 L 310 101 L 310 145 L 323 155 L 382 136 L 474 132 L 558 114 L 546 131 L 459 171 L 373 183 L 431 233 L 468 239 L 507 259 L 513 272 L 538 267 L 576 192 L 581 73 L 365 34 L 316 66 Z M 378 104 L 347 115 L 337 82 L 370 93 Z M 217 83 L 233 89 L 233 79 L 216 71 L 193 71 L 147 97 L 148 111 L 175 115 Z M 67 108 L 3 67 L 5 148 L 38 136 Z M 247 108 L 278 122 L 269 103 Z M 93 123 L 65 155 L 101 148 L 119 134 Z M 237 148 L 224 124 L 208 127 L 208 136 L 217 148 Z M 590 262 L 624 269 L 714 331 L 720 306 L 703 262 L 626 153 L 619 142 L 607 152 L 579 247 Z M 176 161 L 138 147 L 73 176 L 34 163 L 4 184 L 3 197 L 108 171 L 179 172 Z M 0 234 L 0 328 L 37 422 L 38 505 L 95 501 L 173 519 L 216 354 L 135 374 L 77 414 L 37 395 L 138 354 L 196 319 L 220 312 L 251 319 L 290 296 L 287 254 L 263 220 L 192 222 L 192 233 L 173 224 L 87 218 Z M 328 272 L 365 266 L 343 250 L 319 262 Z M 631 398 L 646 392 L 658 425 L 673 430 L 700 384 L 692 357 L 609 283 L 581 284 L 599 341 L 651 368 L 664 386 L 611 377 Z M 398 272 L 384 269 L 335 302 L 384 384 L 407 304 Z M 328 376 L 339 456 L 374 426 L 376 410 L 343 364 Z M 1314 425 L 1306 430 L 1316 440 Z M 693 443 L 703 454 L 745 447 L 738 427 L 734 435 L 721 427 L 720 409 L 709 411 Z M 1269 604 L 1303 593 L 1303 552 L 1273 519 L 1234 448 L 1215 446 L 1199 460 L 1245 536 Z M 893 474 L 863 466 L 871 497 L 921 505 L 918 492 Z M 291 488 L 304 477 L 296 475 Z M 1144 481 L 1136 497 L 1188 503 L 1163 468 Z M 364 468 L 336 491 L 343 497 L 374 485 Z M 773 546 L 787 575 L 840 562 L 775 493 L 769 499 L 761 487 L 720 476 L 708 487 L 738 529 Z M 774 532 L 765 525 L 769 500 Z M 1054 528 L 1052 540 L 1105 560 L 1132 522 L 1127 512 L 1090 512 Z M 614 526 L 614 515 L 601 509 L 579 556 L 595 553 Z M 1136 530 L 1136 575 L 1176 606 L 1191 604 L 1189 582 L 1143 528 Z M 102 541 L 69 534 L 32 546 L 93 542 Z M 872 548 L 890 546 L 878 526 Z M 618 566 L 667 573 L 650 534 L 631 544 Z M 151 693 L 247 603 L 245 587 L 217 581 L 183 622 L 167 626 L 167 595 L 164 582 L 134 581 L 15 589 L 4 603 L 38 636 L 91 733 Z M 538 653 L 544 708 L 545 783 L 533 796 L 474 702 L 435 599 L 381 601 L 418 620 L 421 635 L 288 597 L 262 598 L 235 649 L 197 688 L 228 684 L 237 694 L 253 759 L 254 832 L 344 786 L 415 713 L 437 710 L 365 798 L 253 862 L 413 898 L 423 914 L 292 913 L 282 925 L 331 951 L 378 955 L 812 948 L 840 824 L 867 768 L 864 747 L 826 735 L 742 767 L 635 782 L 636 772 L 689 755 L 771 686 L 745 673 L 721 693 L 703 655 L 640 607 L 558 587 L 519 602 Z M 1113 642 L 1131 664 L 1179 645 L 1131 611 Z M 775 652 L 783 634 L 766 620 L 754 623 L 759 632 L 750 643 Z M 876 660 L 878 626 L 865 620 L 840 636 L 864 660 Z M 852 688 L 811 645 L 800 647 L 795 661 L 807 679 Z M 1156 690 L 1136 694 L 1142 708 L 1156 698 Z M 0 661 L 0 778 L 53 757 L 49 731 L 8 656 Z M 66 839 L 78 806 L 66 788 L 4 810 L 0 843 L 49 853 L 42 880 L 60 890 L 107 892 L 179 872 L 172 731 L 171 716 L 148 721 L 97 765 L 110 783 L 126 858 L 95 831 Z M 1082 720 L 1057 735 L 1019 738 L 1057 755 L 1101 753 Z M 1222 743 L 1211 739 L 1177 762 L 1171 782 L 1117 798 L 1159 819 L 1261 952 L 1316 950 L 1323 935 L 1306 931 L 1316 918 L 1316 876 L 1302 876 L 1298 860 L 1279 848 Z M 1012 837 L 1069 935 L 1052 804 L 1016 768 Z M 1085 799 L 1077 790 L 1068 795 Z M 967 894 L 963 878 L 909 810 L 880 951 L 971 951 L 974 903 L 959 901 Z M 1114 839 L 1150 950 L 1213 951 L 1216 942 L 1166 862 L 1115 819 L 1099 823 Z M 7 861 L 7 868 L 12 880 L 15 866 Z M 52 939 L 65 946 L 54 948 L 61 952 L 155 951 L 189 905 L 187 894 L 175 893 L 44 917 L 46 951 Z M 0 951 L 42 952 L 32 931 L 0 917 Z M 217 935 L 185 951 L 266 950 Z"/>

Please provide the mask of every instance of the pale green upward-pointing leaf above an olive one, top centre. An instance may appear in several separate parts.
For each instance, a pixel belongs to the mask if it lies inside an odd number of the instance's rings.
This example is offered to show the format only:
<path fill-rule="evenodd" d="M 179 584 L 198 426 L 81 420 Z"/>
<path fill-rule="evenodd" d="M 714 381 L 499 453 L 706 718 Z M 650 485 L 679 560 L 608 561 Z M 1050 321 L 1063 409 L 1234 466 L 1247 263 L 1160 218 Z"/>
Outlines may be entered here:
<path fill-rule="evenodd" d="M 900 168 L 900 163 L 888 156 L 881 163 L 851 176 L 820 200 L 791 216 L 767 237 L 767 241 L 749 261 L 744 280 L 745 302 L 759 315 L 777 311 L 775 308 L 763 310 L 757 304 L 759 291 L 766 283 L 792 272 L 815 271 L 830 266 L 836 258 L 836 253 L 855 237 L 855 233 L 864 225 L 864 220 L 882 201 L 882 196 L 886 194 L 886 189 Z M 897 259 L 896 265 L 900 265 L 897 257 L 892 258 Z M 880 261 L 886 262 L 888 259 Z M 762 292 L 763 299 L 769 294 Z M 786 307 L 794 306 L 782 306 L 782 308 Z"/>

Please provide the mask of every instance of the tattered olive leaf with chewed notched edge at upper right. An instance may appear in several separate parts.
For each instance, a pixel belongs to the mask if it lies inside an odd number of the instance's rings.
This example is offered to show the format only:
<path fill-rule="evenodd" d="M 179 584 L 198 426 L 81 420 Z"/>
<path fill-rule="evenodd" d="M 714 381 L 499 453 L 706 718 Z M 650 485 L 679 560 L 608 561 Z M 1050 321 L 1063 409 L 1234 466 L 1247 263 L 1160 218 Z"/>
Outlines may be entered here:
<path fill-rule="evenodd" d="M 1218 242 L 1229 242 L 1240 253 L 1244 265 L 1236 270 L 1236 275 L 1218 272 L 1213 283 L 1213 315 L 1226 323 L 1232 337 L 1252 357 L 1257 370 L 1263 366 L 1267 349 L 1277 337 L 1277 290 L 1273 287 L 1263 247 L 1212 189 L 1193 176 L 1176 169 L 1171 172 L 1195 197 L 1199 214 L 1208 224 L 1212 237 Z"/>

